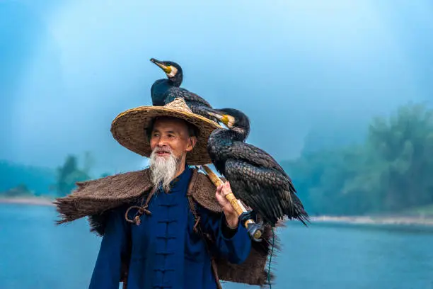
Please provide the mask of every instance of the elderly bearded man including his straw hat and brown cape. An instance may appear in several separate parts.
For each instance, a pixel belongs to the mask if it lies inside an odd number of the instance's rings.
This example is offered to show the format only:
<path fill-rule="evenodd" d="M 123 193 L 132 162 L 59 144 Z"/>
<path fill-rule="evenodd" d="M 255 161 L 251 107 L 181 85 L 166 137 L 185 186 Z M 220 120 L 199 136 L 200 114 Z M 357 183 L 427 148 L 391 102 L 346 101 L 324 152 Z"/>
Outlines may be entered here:
<path fill-rule="evenodd" d="M 217 127 L 180 99 L 133 108 L 113 121 L 117 142 L 149 157 L 149 169 L 77 183 L 54 202 L 63 217 L 58 223 L 88 216 L 103 236 L 90 289 L 117 289 L 120 281 L 128 289 L 214 289 L 224 275 L 265 283 L 267 251 L 252 249 L 224 197 L 229 183 L 216 188 L 188 166 L 211 162 L 207 139 Z M 246 259 L 260 268 L 242 267 Z"/>

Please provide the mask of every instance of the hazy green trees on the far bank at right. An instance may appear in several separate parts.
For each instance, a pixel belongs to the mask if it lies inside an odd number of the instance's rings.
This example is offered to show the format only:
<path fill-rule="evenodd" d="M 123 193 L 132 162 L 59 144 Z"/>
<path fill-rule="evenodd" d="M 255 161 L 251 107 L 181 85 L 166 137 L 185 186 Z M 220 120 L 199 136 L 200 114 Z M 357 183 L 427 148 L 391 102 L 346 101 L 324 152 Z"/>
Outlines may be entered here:
<path fill-rule="evenodd" d="M 362 145 L 283 162 L 311 214 L 357 215 L 433 203 L 433 111 L 402 106 L 375 118 Z"/>

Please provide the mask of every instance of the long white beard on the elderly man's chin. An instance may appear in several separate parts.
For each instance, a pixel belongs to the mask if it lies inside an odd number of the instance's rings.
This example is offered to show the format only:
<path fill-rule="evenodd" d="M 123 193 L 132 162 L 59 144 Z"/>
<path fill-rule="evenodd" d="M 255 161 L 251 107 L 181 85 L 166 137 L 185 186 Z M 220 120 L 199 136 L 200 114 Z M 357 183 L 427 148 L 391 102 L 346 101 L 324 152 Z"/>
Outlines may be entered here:
<path fill-rule="evenodd" d="M 168 159 L 165 157 L 158 157 L 156 152 L 158 148 L 155 148 L 149 158 L 149 168 L 151 171 L 151 181 L 154 184 L 154 188 L 162 185 L 163 190 L 170 191 L 170 183 L 173 181 L 176 173 L 178 172 L 178 166 L 180 159 L 177 159 L 171 149 L 164 148 L 164 151 L 169 151 L 170 156 Z"/>

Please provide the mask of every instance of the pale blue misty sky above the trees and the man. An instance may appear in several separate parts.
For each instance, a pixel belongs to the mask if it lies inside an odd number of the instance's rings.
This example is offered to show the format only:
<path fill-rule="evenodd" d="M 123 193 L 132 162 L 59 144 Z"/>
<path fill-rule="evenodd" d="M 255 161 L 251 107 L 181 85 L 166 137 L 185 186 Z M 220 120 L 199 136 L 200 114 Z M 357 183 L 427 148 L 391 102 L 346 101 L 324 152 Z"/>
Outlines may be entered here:
<path fill-rule="evenodd" d="M 42 3 L 43 2 L 43 3 Z M 86 150 L 96 171 L 141 169 L 110 134 L 151 104 L 178 62 L 183 87 L 250 116 L 248 142 L 299 155 L 308 131 L 359 128 L 432 101 L 433 2 L 0 1 L 0 159 L 54 167 Z"/>

